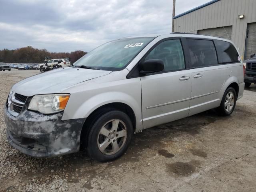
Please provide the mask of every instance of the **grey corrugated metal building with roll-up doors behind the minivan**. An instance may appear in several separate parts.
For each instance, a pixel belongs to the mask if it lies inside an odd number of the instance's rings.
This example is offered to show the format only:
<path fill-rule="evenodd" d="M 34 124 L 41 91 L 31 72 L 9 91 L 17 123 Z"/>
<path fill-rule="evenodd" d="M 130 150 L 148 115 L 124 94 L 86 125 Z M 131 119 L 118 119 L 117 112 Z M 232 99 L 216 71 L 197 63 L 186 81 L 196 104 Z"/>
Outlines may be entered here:
<path fill-rule="evenodd" d="M 256 53 L 256 0 L 212 0 L 173 19 L 174 32 L 230 39 L 244 60 Z"/>

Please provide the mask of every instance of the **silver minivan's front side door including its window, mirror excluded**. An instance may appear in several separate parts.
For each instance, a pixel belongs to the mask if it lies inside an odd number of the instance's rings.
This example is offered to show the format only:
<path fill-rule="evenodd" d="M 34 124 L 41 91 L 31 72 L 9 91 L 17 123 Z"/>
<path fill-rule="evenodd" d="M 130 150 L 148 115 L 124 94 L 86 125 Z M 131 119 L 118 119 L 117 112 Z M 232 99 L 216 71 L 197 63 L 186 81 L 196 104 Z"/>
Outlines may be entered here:
<path fill-rule="evenodd" d="M 180 38 L 161 40 L 142 62 L 148 59 L 162 60 L 164 71 L 140 77 L 144 129 L 187 117 L 192 83 Z"/>

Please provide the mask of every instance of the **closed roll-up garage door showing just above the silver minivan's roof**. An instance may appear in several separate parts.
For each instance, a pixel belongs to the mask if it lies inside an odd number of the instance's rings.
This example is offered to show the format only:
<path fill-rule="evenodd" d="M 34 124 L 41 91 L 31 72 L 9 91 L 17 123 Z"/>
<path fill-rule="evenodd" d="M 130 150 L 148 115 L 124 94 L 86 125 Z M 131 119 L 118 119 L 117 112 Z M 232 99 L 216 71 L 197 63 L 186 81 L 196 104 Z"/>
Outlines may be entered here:
<path fill-rule="evenodd" d="M 232 26 L 198 30 L 198 34 L 220 37 L 220 38 L 231 40 Z"/>

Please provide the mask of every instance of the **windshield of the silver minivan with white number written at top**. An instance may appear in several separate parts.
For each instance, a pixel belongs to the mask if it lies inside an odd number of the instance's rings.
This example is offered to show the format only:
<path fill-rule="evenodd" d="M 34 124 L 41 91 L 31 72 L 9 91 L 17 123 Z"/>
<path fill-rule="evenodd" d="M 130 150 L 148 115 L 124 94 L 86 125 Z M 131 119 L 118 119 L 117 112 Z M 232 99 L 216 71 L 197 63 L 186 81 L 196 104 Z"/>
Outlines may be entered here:
<path fill-rule="evenodd" d="M 74 66 L 122 70 L 153 39 L 153 37 L 125 38 L 105 43 L 77 60 Z"/>

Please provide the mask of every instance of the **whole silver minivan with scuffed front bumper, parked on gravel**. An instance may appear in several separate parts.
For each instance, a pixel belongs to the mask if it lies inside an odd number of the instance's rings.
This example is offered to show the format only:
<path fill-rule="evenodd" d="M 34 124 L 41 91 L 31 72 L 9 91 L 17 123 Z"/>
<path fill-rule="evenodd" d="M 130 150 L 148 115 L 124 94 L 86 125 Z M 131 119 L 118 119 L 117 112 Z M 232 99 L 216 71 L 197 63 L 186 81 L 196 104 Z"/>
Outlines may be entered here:
<path fill-rule="evenodd" d="M 229 40 L 182 33 L 121 38 L 70 68 L 12 86 L 7 139 L 34 157 L 84 149 L 110 161 L 124 154 L 134 132 L 212 108 L 232 114 L 243 91 L 243 64 Z"/>

